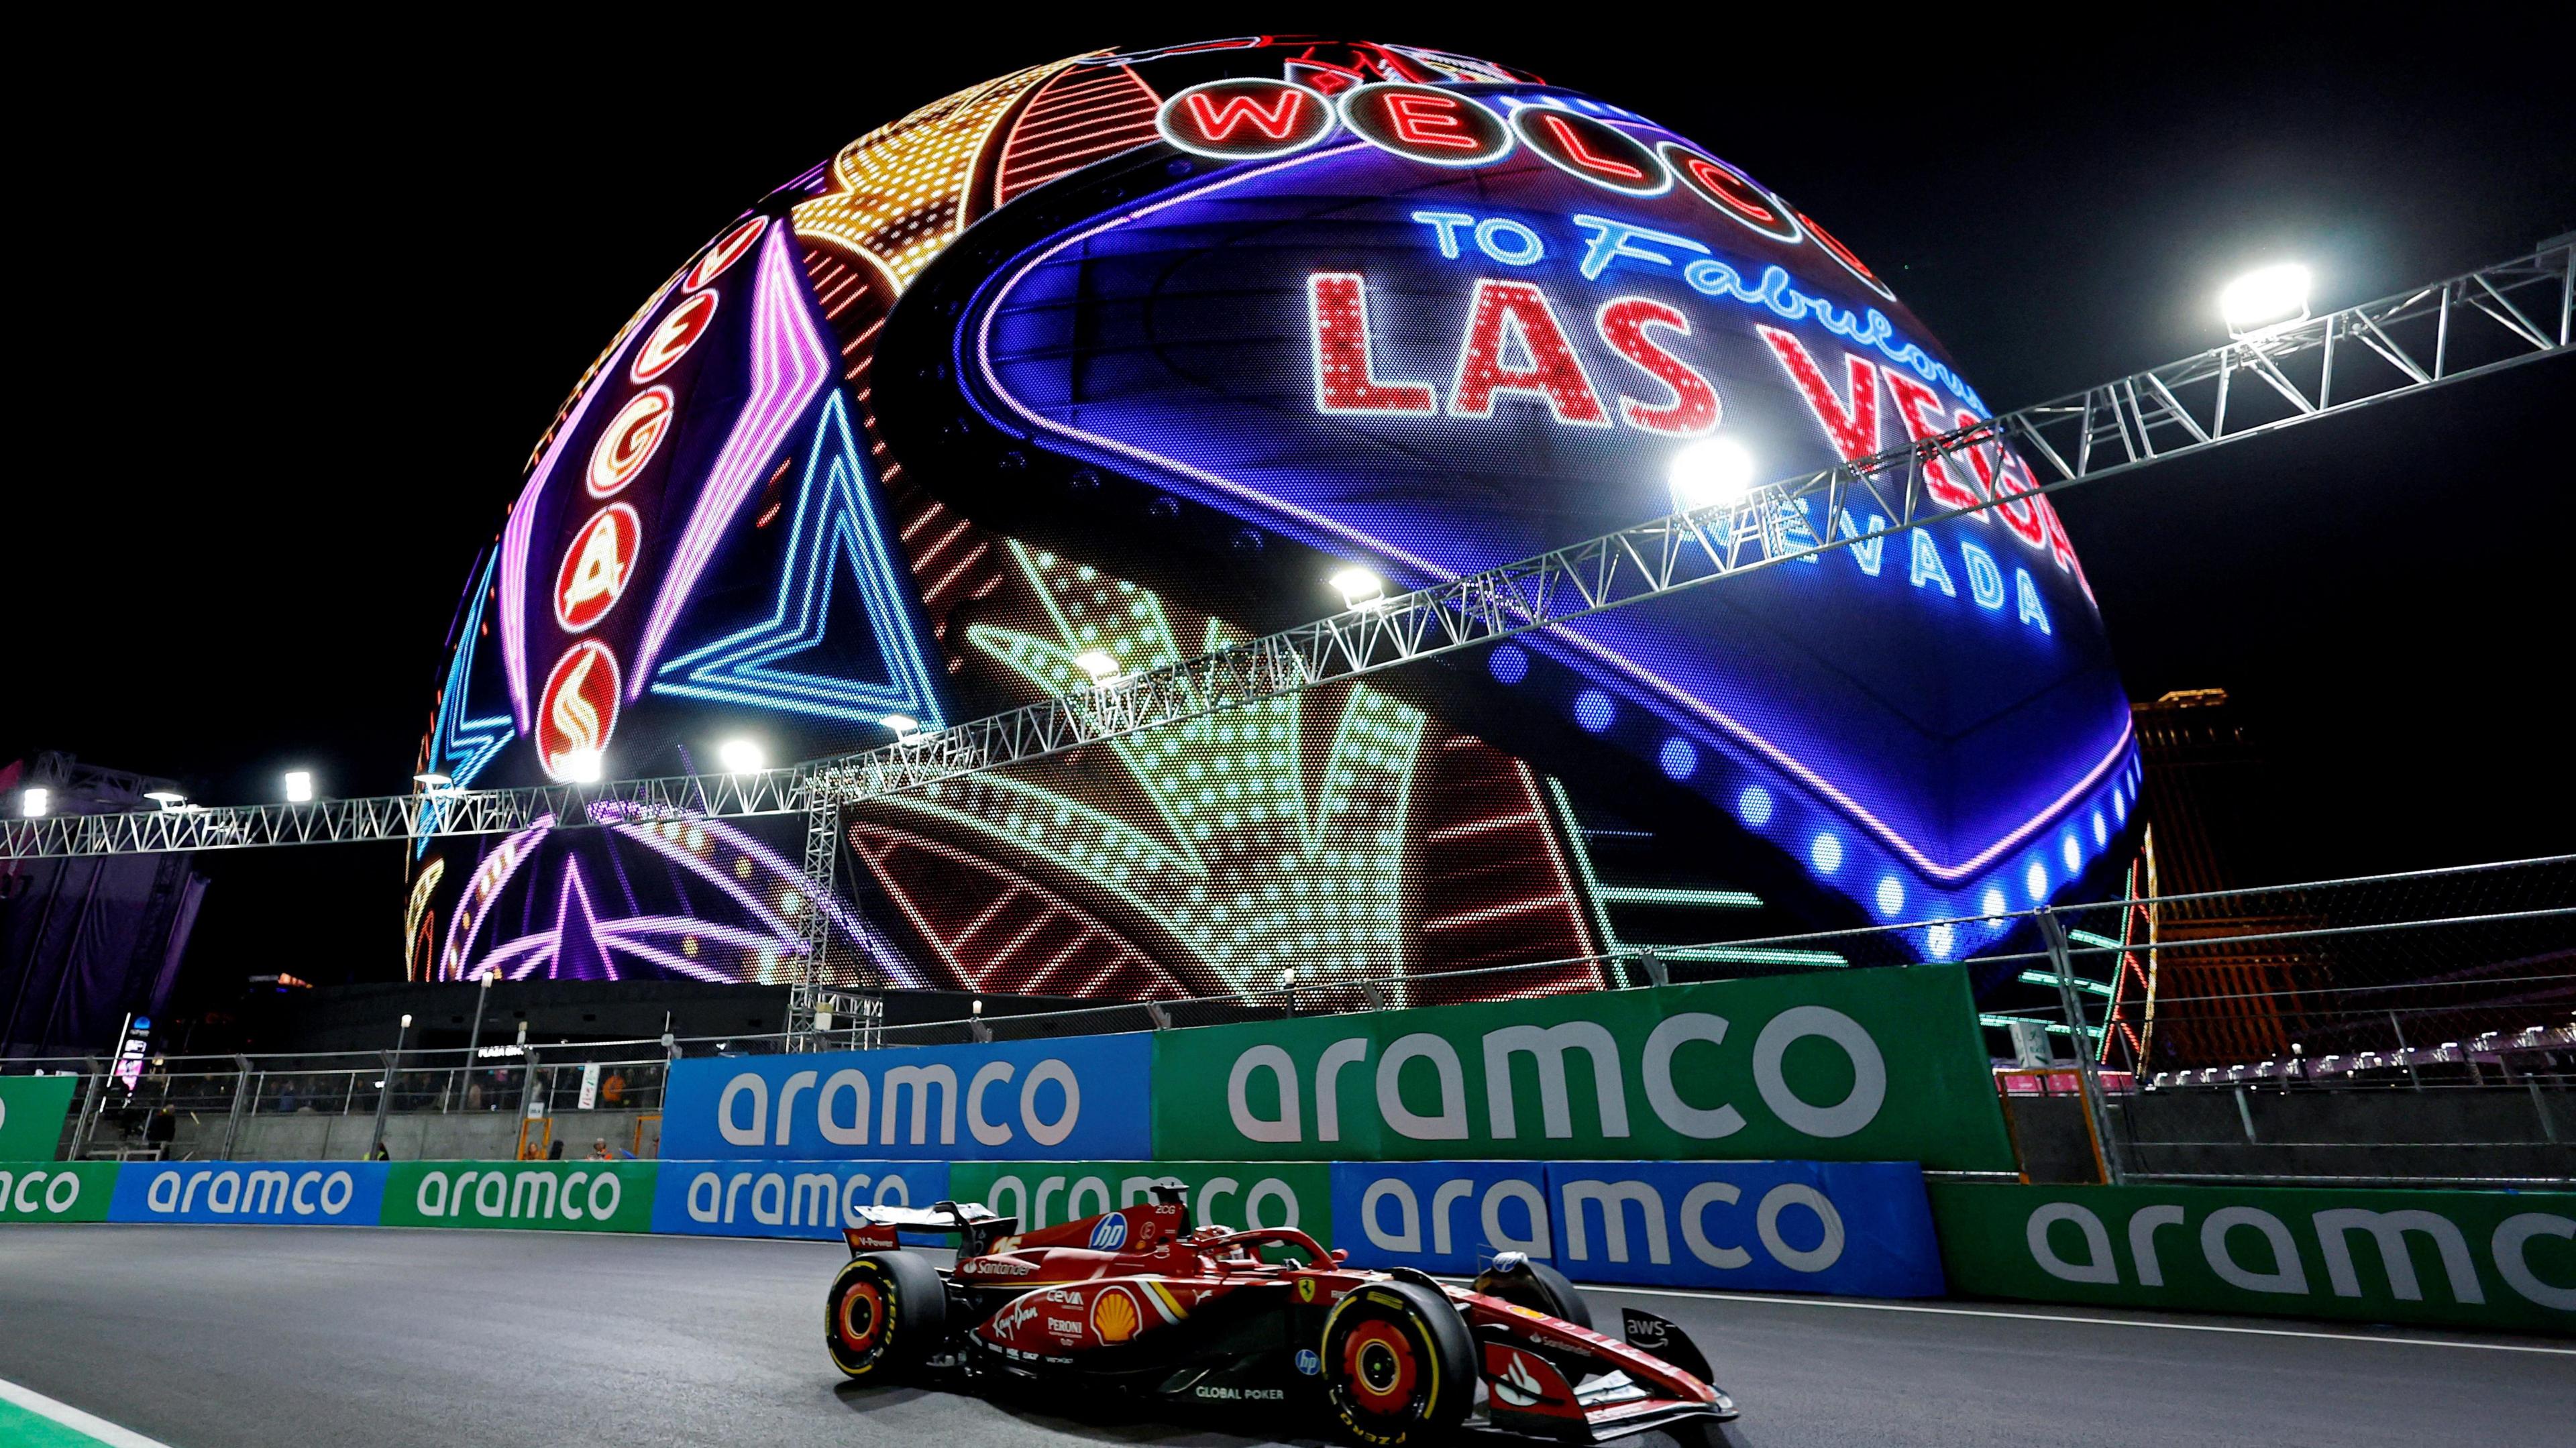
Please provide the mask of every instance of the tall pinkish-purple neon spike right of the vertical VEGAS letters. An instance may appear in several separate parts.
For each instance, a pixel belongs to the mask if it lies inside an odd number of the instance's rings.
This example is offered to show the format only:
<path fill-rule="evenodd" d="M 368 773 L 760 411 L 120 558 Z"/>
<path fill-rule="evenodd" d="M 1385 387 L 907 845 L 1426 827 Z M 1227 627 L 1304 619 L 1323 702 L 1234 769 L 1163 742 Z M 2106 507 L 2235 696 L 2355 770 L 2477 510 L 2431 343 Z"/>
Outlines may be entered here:
<path fill-rule="evenodd" d="M 734 417 L 716 466 L 706 474 L 698 508 L 688 515 L 688 531 L 662 572 L 662 593 L 652 600 L 652 618 L 644 624 L 644 644 L 636 647 L 634 667 L 626 672 L 626 698 L 644 698 L 652 683 L 652 665 L 662 657 L 680 608 L 688 605 L 698 575 L 716 554 L 716 538 L 752 495 L 760 469 L 778 451 L 788 425 L 804 415 L 806 405 L 832 376 L 832 348 L 814 330 L 814 317 L 804 304 L 804 286 L 796 278 L 796 260 L 788 242 L 791 227 L 770 227 L 760 242 L 760 283 L 752 299 L 752 397 Z"/>

